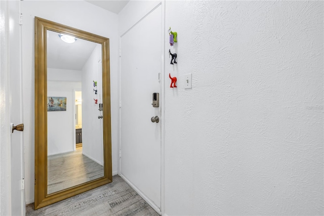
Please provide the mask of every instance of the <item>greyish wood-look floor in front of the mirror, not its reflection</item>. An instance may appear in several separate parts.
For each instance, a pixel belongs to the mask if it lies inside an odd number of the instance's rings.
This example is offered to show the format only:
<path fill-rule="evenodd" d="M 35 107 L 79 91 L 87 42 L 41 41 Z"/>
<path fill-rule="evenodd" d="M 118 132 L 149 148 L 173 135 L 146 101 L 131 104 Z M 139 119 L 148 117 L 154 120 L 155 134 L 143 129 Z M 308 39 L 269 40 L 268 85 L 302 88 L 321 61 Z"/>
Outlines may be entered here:
<path fill-rule="evenodd" d="M 112 183 L 70 197 L 43 208 L 26 206 L 27 216 L 51 215 L 158 215 L 120 176 Z"/>

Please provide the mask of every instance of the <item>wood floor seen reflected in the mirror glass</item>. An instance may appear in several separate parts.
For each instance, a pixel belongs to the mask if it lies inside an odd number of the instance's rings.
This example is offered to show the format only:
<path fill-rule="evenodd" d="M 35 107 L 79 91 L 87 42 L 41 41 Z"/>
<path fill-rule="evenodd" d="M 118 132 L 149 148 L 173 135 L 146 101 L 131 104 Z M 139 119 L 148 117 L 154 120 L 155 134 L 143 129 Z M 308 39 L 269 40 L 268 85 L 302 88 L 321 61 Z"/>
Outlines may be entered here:
<path fill-rule="evenodd" d="M 82 147 L 74 152 L 48 156 L 47 193 L 70 188 L 103 177 L 103 166 L 82 154 Z"/>

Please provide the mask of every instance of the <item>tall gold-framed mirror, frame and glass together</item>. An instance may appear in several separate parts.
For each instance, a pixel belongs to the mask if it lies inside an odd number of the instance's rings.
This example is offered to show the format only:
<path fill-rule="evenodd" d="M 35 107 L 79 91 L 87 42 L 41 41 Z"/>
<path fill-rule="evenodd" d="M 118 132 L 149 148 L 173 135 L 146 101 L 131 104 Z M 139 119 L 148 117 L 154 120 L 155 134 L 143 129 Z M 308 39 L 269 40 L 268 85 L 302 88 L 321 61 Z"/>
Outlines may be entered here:
<path fill-rule="evenodd" d="M 109 78 L 109 39 L 35 17 L 34 209 L 112 181 Z"/>

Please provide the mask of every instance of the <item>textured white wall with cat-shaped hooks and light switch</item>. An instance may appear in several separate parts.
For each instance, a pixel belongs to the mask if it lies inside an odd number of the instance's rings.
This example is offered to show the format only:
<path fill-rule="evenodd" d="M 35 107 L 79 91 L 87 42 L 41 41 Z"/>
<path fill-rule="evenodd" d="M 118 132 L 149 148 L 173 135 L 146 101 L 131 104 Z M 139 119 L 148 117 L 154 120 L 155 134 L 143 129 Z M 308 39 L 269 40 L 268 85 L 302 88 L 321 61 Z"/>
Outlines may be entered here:
<path fill-rule="evenodd" d="M 322 215 L 323 2 L 166 1 L 165 32 L 165 213 Z"/>

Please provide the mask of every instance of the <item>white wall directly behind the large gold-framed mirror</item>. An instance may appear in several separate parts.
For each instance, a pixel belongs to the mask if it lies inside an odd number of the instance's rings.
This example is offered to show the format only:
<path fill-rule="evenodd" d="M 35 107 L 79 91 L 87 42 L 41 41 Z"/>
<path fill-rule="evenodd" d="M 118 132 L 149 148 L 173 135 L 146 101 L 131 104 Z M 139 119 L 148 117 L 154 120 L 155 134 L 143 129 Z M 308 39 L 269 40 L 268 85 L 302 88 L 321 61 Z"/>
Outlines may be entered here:
<path fill-rule="evenodd" d="M 73 10 L 72 10 L 73 9 Z M 112 170 L 117 172 L 117 15 L 85 1 L 21 2 L 26 202 L 34 200 L 34 17 L 38 16 L 110 39 Z M 85 14 L 87 14 L 85 16 Z"/>

